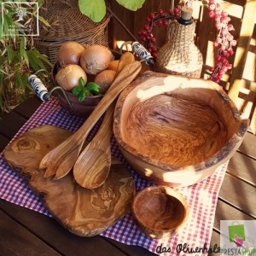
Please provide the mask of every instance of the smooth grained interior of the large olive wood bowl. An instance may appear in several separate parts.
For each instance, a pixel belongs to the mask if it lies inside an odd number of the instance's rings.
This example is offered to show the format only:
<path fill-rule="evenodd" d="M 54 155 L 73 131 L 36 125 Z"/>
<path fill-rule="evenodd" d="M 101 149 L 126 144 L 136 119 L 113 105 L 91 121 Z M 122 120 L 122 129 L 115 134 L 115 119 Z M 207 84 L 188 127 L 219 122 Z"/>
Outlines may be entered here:
<path fill-rule="evenodd" d="M 202 79 L 140 81 L 123 102 L 123 144 L 132 154 L 162 166 L 195 166 L 211 158 L 241 125 L 219 91 Z"/>

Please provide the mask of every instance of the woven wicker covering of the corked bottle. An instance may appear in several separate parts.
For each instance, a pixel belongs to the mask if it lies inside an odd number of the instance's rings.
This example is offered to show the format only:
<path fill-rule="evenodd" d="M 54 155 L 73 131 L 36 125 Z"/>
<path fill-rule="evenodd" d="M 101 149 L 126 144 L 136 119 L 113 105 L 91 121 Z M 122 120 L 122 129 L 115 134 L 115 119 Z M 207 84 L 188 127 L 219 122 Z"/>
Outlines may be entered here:
<path fill-rule="evenodd" d="M 184 26 L 174 20 L 169 40 L 159 50 L 154 71 L 200 78 L 203 61 L 194 43 L 194 33 L 195 22 Z"/>

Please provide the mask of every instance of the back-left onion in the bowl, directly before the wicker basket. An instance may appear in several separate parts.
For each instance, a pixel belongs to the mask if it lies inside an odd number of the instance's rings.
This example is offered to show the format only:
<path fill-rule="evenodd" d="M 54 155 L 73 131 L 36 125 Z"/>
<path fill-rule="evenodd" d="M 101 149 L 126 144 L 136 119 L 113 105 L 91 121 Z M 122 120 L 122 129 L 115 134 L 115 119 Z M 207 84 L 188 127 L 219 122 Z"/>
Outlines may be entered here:
<path fill-rule="evenodd" d="M 67 41 L 58 50 L 57 61 L 64 67 L 68 64 L 78 64 L 84 52 L 84 46 L 75 41 Z"/>

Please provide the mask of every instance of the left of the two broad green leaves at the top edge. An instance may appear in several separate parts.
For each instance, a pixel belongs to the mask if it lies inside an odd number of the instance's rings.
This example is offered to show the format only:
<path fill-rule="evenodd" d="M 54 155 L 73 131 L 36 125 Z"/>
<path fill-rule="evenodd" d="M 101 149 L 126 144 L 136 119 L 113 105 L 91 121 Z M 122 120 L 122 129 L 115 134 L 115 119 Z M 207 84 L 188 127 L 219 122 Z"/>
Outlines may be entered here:
<path fill-rule="evenodd" d="M 101 21 L 106 15 L 106 3 L 104 0 L 79 0 L 79 9 L 83 15 L 95 22 Z"/>

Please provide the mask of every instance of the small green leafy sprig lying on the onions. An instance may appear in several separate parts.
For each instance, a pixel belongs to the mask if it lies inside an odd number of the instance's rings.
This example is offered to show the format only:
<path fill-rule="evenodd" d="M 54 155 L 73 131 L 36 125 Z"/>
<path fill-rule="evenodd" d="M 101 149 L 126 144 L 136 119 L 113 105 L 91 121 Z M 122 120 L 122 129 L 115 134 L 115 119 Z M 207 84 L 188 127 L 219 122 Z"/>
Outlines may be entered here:
<path fill-rule="evenodd" d="M 73 87 L 72 93 L 74 96 L 78 96 L 79 102 L 84 102 L 86 96 L 96 96 L 101 94 L 98 84 L 94 82 L 85 84 L 82 77 L 79 79 L 79 84 Z"/>

